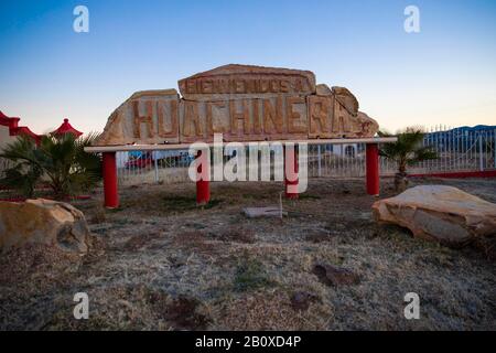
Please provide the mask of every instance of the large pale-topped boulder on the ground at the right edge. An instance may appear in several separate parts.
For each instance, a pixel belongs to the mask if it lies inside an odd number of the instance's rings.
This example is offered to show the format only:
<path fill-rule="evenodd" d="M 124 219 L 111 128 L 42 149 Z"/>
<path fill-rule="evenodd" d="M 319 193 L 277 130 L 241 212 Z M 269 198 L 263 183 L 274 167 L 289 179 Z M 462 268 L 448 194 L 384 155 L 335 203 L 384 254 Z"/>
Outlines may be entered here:
<path fill-rule="evenodd" d="M 450 246 L 496 235 L 496 204 L 445 185 L 421 185 L 373 205 L 376 221 Z"/>

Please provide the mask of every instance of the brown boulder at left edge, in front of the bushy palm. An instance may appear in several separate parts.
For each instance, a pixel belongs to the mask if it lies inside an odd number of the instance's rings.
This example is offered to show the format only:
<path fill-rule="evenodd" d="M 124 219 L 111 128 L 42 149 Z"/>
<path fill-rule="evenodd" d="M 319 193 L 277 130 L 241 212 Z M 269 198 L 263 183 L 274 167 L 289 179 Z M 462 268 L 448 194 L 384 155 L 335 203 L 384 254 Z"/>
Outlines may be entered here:
<path fill-rule="evenodd" d="M 28 200 L 0 202 L 0 250 L 41 243 L 85 254 L 89 229 L 83 212 L 63 202 Z"/>

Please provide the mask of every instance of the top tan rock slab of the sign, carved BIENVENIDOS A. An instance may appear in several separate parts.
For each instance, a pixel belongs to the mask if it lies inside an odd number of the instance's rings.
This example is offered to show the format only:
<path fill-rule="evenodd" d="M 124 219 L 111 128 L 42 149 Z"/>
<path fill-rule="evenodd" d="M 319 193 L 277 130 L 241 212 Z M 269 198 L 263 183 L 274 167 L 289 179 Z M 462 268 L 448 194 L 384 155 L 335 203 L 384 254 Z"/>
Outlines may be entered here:
<path fill-rule="evenodd" d="M 315 75 L 310 71 L 229 64 L 183 78 L 179 87 L 184 99 L 203 101 L 306 96 L 315 93 Z"/>

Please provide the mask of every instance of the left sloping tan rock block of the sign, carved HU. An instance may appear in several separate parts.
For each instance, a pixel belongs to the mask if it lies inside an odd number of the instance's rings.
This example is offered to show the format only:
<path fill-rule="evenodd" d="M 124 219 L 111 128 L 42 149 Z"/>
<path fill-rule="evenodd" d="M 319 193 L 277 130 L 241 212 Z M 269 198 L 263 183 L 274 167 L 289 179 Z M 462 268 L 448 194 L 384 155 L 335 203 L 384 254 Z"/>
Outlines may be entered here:
<path fill-rule="evenodd" d="M 110 115 L 94 145 L 176 143 L 179 106 L 175 89 L 137 92 Z"/>

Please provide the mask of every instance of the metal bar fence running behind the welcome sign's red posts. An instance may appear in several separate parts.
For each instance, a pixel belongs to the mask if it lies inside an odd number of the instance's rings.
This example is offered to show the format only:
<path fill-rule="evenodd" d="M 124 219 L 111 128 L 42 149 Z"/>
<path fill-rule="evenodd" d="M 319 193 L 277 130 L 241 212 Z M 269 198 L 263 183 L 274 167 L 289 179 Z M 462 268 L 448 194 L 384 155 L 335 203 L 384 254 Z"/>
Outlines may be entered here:
<path fill-rule="evenodd" d="M 423 145 L 431 146 L 439 158 L 410 167 L 409 173 L 496 170 L 496 129 L 436 127 L 425 135 Z M 187 150 L 118 152 L 119 183 L 130 185 L 188 181 L 191 161 Z M 396 170 L 393 162 L 380 158 L 381 175 L 392 175 Z M 309 146 L 310 178 L 364 175 L 364 143 Z"/>

